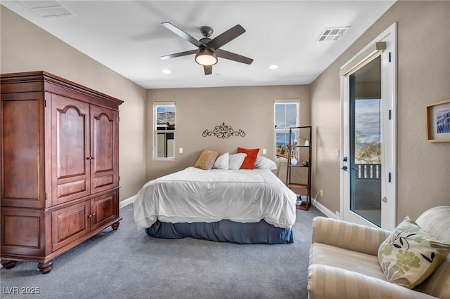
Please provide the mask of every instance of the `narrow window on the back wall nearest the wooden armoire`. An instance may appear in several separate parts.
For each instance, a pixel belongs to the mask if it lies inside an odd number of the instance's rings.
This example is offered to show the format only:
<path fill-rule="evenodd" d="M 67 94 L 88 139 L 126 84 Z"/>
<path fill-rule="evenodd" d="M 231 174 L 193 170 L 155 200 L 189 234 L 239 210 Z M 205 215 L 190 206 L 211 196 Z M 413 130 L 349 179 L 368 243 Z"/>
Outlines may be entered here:
<path fill-rule="evenodd" d="M 175 157 L 175 103 L 153 102 L 153 159 Z"/>

